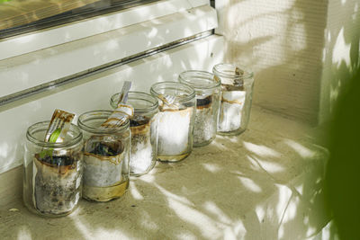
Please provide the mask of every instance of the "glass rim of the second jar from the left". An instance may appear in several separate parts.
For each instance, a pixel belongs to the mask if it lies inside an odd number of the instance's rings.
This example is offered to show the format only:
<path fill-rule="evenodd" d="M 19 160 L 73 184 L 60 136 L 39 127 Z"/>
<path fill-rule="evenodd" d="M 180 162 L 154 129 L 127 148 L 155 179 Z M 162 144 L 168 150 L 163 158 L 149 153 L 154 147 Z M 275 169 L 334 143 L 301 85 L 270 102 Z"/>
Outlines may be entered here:
<path fill-rule="evenodd" d="M 94 128 L 91 126 L 88 126 L 85 123 L 85 120 L 89 117 L 94 117 L 91 119 L 87 119 L 87 120 L 96 120 L 96 119 L 107 119 L 108 116 L 110 116 L 112 114 L 112 111 L 110 110 L 93 110 L 93 111 L 86 111 L 84 113 L 82 113 L 78 119 L 77 119 L 77 126 L 80 129 L 83 129 L 87 132 L 90 133 L 94 133 L 94 134 L 112 134 L 112 133 L 116 133 L 116 132 L 121 132 L 125 129 L 129 128 L 130 125 L 130 120 L 126 120 L 124 122 L 124 124 L 122 124 L 120 127 L 118 128 L 112 128 L 112 129 L 99 129 L 99 128 Z M 102 117 L 102 116 L 107 116 L 106 118 Z"/>

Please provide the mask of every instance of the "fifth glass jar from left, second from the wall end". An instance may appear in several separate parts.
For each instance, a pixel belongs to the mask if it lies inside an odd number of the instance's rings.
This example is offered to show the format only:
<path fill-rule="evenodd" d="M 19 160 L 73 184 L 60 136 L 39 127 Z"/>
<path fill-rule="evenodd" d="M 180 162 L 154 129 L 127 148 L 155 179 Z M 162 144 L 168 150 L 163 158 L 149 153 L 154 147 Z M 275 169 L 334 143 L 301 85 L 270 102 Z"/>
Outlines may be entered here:
<path fill-rule="evenodd" d="M 205 71 L 184 71 L 179 82 L 195 90 L 196 111 L 193 129 L 193 147 L 202 147 L 216 137 L 220 106 L 220 79 Z"/>

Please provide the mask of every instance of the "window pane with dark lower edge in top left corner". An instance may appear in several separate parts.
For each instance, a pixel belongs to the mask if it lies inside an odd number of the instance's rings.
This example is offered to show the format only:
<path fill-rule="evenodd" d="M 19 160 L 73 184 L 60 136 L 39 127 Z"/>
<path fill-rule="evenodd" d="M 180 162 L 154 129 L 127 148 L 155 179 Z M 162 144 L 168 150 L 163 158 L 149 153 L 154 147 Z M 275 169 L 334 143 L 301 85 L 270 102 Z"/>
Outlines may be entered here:
<path fill-rule="evenodd" d="M 0 39 L 158 0 L 0 0 Z"/>

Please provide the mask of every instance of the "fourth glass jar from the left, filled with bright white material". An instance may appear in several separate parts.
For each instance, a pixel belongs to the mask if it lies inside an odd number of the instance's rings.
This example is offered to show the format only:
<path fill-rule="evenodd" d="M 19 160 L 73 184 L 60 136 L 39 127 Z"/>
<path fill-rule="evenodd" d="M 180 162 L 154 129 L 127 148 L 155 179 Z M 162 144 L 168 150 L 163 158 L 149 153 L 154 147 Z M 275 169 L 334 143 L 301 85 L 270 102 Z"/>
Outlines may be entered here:
<path fill-rule="evenodd" d="M 157 97 L 157 160 L 177 162 L 193 150 L 195 92 L 186 84 L 161 82 L 153 84 L 150 93 Z M 163 101 L 168 98 L 171 101 Z"/>

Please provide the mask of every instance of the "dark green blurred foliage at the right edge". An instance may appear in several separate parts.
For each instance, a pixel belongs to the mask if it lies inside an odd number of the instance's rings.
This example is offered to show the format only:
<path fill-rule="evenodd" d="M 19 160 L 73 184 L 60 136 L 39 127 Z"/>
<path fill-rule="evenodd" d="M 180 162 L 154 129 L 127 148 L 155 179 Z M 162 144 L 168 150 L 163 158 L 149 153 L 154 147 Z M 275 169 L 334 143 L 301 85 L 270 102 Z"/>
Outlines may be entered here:
<path fill-rule="evenodd" d="M 326 191 L 341 240 L 360 239 L 360 71 L 338 99 L 329 132 Z"/>

